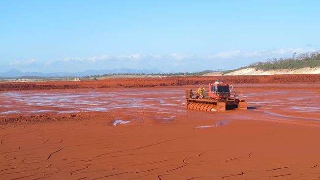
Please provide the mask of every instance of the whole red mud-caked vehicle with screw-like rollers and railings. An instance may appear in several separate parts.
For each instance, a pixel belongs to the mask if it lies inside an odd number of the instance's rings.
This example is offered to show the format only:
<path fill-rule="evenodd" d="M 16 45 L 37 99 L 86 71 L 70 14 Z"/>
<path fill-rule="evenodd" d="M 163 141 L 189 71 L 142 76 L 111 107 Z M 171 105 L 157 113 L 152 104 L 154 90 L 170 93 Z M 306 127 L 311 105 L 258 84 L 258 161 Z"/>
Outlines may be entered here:
<path fill-rule="evenodd" d="M 231 89 L 230 89 L 231 87 Z M 201 86 L 198 90 L 186 90 L 186 108 L 201 111 L 225 111 L 225 109 L 247 109 L 242 91 L 232 91 L 233 87 L 216 81 L 209 84 L 209 90 Z"/>

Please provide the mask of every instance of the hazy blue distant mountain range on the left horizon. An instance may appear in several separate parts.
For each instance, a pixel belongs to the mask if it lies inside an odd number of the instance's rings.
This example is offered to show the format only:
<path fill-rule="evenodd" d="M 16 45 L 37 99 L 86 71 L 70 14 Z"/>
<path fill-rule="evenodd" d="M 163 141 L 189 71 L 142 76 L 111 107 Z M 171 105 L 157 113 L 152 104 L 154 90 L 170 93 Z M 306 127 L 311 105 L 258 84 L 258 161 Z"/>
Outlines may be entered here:
<path fill-rule="evenodd" d="M 129 74 L 158 74 L 162 73 L 159 69 L 104 69 L 104 70 L 87 70 L 82 72 L 52 72 L 52 73 L 42 73 L 42 72 L 21 72 L 17 69 L 11 69 L 7 72 L 0 72 L 0 78 L 17 78 L 19 77 L 41 77 L 41 78 L 57 78 L 66 77 L 67 74 L 70 77 L 83 77 L 83 76 L 93 76 L 93 75 L 103 75 L 103 74 L 118 74 L 118 73 L 129 73 Z"/>

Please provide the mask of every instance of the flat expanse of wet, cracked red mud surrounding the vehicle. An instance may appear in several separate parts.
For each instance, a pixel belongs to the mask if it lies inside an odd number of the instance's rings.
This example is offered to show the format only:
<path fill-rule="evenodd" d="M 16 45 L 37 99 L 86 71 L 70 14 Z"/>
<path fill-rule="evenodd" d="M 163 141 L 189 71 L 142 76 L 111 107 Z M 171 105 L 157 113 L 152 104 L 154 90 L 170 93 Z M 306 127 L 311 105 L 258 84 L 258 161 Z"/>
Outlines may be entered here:
<path fill-rule="evenodd" d="M 320 83 L 233 85 L 248 110 L 187 110 L 196 86 L 2 91 L 0 179 L 319 179 Z"/>

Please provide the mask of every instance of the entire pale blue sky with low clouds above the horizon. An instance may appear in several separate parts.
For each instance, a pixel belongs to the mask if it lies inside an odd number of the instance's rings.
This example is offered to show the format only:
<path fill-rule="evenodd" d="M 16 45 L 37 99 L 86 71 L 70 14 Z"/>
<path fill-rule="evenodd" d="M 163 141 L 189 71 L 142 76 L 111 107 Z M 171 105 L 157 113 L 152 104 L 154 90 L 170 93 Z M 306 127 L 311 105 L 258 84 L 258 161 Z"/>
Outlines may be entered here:
<path fill-rule="evenodd" d="M 319 0 L 1 0 L 0 71 L 232 69 L 320 49 Z"/>

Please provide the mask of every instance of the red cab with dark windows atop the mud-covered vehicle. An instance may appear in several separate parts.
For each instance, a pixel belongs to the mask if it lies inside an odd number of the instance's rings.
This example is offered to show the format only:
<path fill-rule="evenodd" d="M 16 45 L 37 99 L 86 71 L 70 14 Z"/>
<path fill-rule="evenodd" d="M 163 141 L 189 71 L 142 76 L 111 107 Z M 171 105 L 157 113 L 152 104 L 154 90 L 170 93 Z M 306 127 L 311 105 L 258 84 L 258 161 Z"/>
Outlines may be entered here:
<path fill-rule="evenodd" d="M 232 90 L 232 86 L 231 86 Z M 212 99 L 228 99 L 230 98 L 230 87 L 228 84 L 224 84 L 221 81 L 216 81 L 213 84 L 209 84 L 209 97 Z"/>

